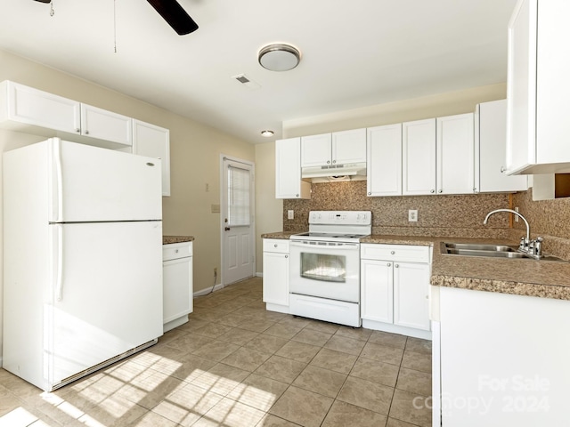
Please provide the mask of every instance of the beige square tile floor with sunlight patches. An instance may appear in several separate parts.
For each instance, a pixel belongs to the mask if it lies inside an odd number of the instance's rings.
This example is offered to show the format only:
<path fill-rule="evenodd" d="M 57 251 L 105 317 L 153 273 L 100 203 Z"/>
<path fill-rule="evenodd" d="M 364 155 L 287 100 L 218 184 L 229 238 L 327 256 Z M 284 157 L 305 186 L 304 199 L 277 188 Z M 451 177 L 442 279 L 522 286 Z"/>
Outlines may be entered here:
<path fill-rule="evenodd" d="M 261 298 L 260 278 L 199 297 L 157 345 L 53 393 L 0 369 L 0 426 L 431 425 L 431 342 Z"/>

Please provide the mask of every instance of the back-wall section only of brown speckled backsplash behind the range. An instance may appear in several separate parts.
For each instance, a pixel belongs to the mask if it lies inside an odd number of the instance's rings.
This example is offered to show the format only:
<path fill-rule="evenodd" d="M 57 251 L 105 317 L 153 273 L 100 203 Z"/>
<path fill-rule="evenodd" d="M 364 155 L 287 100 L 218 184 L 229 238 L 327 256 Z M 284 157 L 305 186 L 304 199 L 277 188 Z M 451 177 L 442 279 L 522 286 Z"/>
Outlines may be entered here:
<path fill-rule="evenodd" d="M 283 230 L 306 230 L 309 211 L 371 211 L 374 234 L 508 238 L 509 215 L 485 215 L 509 207 L 509 194 L 458 196 L 367 197 L 366 181 L 314 183 L 310 200 L 283 201 Z M 418 222 L 408 222 L 408 210 L 418 210 Z M 293 210 L 295 219 L 287 219 Z"/>

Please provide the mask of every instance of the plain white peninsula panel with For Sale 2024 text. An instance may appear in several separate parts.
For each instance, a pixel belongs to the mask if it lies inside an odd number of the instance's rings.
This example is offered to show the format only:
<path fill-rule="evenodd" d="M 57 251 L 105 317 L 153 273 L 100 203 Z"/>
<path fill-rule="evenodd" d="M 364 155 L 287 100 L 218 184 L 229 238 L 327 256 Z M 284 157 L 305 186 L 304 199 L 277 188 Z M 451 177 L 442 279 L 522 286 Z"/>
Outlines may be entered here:
<path fill-rule="evenodd" d="M 570 301 L 435 292 L 434 425 L 567 425 Z"/>

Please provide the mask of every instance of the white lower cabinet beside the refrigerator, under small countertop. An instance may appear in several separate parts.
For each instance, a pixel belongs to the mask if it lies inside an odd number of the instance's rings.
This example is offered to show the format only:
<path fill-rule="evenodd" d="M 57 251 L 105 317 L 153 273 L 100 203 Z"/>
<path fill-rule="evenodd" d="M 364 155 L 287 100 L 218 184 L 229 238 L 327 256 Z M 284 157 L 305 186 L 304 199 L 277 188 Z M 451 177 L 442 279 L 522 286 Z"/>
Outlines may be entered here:
<path fill-rule="evenodd" d="M 193 310 L 192 242 L 162 246 L 164 332 L 183 325 Z"/>

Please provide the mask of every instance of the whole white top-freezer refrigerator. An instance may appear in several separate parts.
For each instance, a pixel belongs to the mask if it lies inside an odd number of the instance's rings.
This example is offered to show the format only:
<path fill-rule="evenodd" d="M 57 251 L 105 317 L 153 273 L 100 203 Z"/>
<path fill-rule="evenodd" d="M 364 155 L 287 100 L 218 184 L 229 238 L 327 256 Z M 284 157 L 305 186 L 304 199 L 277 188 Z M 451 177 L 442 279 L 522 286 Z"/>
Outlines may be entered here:
<path fill-rule="evenodd" d="M 4 369 L 53 391 L 157 342 L 160 177 L 59 138 L 4 153 Z"/>

